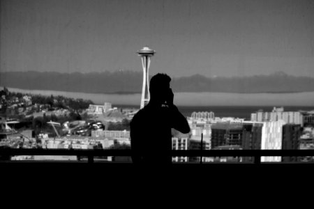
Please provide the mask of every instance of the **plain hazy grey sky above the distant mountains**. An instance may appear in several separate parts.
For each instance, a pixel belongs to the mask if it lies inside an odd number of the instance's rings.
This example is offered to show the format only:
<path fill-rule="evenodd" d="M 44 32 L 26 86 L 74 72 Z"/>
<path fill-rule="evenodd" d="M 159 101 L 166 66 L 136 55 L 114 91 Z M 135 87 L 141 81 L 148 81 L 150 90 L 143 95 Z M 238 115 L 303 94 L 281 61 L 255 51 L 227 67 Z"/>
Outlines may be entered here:
<path fill-rule="evenodd" d="M 314 77 L 313 0 L 1 0 L 1 71 Z"/>

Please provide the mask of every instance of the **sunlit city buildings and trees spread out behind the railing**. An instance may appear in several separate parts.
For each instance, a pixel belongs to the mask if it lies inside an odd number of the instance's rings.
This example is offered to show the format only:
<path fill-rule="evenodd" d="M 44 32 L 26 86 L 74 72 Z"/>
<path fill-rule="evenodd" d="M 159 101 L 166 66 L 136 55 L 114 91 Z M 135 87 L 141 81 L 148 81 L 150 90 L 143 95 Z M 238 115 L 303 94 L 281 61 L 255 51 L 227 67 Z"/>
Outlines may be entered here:
<path fill-rule="evenodd" d="M 88 100 L 76 101 L 79 103 L 73 102 L 70 98 L 53 97 L 52 95 L 45 97 L 10 93 L 8 89 L 1 91 L 0 109 L 5 107 L 6 114 L 4 117 L 1 115 L 0 118 L 2 134 L 0 146 L 33 150 L 38 150 L 38 148 L 41 148 L 40 150 L 130 148 L 130 120 L 138 109 L 112 108 L 112 104 L 108 102 L 103 105 L 95 105 L 90 104 L 92 102 Z M 68 107 L 66 107 L 67 105 Z M 74 109 L 76 109 L 76 115 Z M 205 109 L 210 112 L 204 112 Z M 229 107 L 229 109 L 228 107 L 203 107 L 202 109 L 192 107 L 185 110 L 183 108 L 182 114 L 188 122 L 190 131 L 185 134 L 176 130 L 171 131 L 172 150 L 292 151 L 313 149 L 313 110 L 301 110 L 296 107 L 287 109 L 274 107 L 272 110 L 267 107 L 267 109 L 263 111 L 262 109 L 257 110 L 257 107 Z M 188 116 L 186 116 L 186 111 L 190 111 Z M 246 117 L 240 116 L 239 111 L 243 111 Z M 240 118 L 232 116 L 234 113 L 237 113 Z M 250 113 L 251 120 L 247 117 Z M 14 118 L 8 118 L 7 115 Z M 81 115 L 80 118 L 77 118 L 79 115 Z M 40 155 L 45 155 L 45 153 Z M 175 157 L 174 155 L 172 162 L 254 162 L 257 164 L 260 162 L 313 162 L 311 157 L 263 156 L 260 157 L 260 160 L 255 160 L 252 157 Z M 73 160 L 73 162 L 88 160 L 89 163 L 94 162 L 94 158 L 90 157 L 88 159 L 75 155 L 72 157 L 56 157 L 55 155 L 38 157 L 36 153 L 35 155 L 17 155 L 6 159 Z M 101 157 L 98 159 L 95 157 L 95 160 L 112 163 L 132 162 L 130 157 L 116 158 L 116 155 L 113 158 Z"/>

